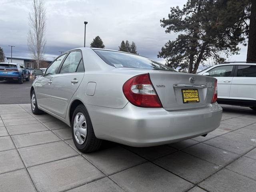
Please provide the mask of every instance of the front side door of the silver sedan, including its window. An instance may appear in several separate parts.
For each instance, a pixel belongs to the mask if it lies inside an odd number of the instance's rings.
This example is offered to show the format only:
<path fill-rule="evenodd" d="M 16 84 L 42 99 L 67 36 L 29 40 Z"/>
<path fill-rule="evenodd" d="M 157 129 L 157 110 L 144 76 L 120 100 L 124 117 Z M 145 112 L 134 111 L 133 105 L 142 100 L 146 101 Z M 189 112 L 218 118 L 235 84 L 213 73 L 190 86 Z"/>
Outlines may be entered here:
<path fill-rule="evenodd" d="M 66 54 L 63 54 L 62 56 L 56 58 L 56 60 L 52 62 L 52 64 L 47 68 L 44 75 L 39 76 L 35 81 L 37 104 L 49 111 L 52 110 L 52 78 L 54 74 L 58 72 L 60 64 L 62 63 L 62 60 L 65 58 L 65 56 Z"/>

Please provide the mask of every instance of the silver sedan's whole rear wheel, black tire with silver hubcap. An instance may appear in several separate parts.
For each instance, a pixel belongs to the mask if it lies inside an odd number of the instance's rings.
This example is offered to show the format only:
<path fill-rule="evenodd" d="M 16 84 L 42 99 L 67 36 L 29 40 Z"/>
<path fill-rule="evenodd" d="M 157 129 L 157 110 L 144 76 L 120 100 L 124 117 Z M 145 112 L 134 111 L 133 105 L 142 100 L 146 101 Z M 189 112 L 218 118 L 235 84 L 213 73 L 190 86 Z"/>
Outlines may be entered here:
<path fill-rule="evenodd" d="M 80 152 L 90 153 L 100 148 L 102 140 L 96 138 L 90 116 L 82 104 L 74 110 L 71 130 L 74 144 Z"/>

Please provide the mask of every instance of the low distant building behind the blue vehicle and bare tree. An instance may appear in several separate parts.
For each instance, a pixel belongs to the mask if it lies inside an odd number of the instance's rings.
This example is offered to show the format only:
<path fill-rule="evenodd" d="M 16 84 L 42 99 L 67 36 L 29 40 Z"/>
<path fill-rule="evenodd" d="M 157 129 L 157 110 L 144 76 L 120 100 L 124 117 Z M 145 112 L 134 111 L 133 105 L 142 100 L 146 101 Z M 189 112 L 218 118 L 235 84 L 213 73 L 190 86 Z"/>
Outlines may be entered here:
<path fill-rule="evenodd" d="M 11 62 L 10 57 L 6 57 L 6 59 L 8 60 L 8 62 Z M 28 68 L 34 68 L 34 69 L 36 68 L 36 62 L 33 59 L 14 58 L 13 57 L 12 62 L 24 64 L 24 66 L 28 67 Z M 43 60 L 40 62 L 39 68 L 47 68 L 51 63 L 52 63 L 52 61 Z"/>

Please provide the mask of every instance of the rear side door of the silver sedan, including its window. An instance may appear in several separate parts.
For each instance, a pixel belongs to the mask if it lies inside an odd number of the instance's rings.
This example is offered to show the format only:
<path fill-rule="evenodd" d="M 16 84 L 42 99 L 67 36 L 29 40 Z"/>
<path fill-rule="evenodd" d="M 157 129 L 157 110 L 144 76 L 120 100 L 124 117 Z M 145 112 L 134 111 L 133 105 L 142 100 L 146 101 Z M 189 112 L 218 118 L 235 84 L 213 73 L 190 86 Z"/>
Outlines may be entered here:
<path fill-rule="evenodd" d="M 84 77 L 84 63 L 80 50 L 68 54 L 59 73 L 52 79 L 52 111 L 65 118 L 70 99 L 79 87 Z"/>

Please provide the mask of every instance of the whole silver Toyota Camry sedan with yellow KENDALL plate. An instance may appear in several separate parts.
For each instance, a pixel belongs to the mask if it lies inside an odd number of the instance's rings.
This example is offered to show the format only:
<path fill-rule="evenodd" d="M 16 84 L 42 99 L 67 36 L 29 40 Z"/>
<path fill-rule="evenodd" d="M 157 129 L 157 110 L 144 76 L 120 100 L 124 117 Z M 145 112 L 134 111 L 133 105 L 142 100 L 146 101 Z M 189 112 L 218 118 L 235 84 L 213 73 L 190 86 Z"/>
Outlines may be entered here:
<path fill-rule="evenodd" d="M 136 147 L 177 142 L 216 129 L 217 80 L 179 73 L 148 58 L 98 48 L 60 55 L 32 84 L 31 108 L 72 128 L 81 152 L 102 140 Z"/>

